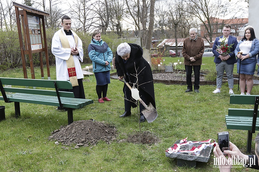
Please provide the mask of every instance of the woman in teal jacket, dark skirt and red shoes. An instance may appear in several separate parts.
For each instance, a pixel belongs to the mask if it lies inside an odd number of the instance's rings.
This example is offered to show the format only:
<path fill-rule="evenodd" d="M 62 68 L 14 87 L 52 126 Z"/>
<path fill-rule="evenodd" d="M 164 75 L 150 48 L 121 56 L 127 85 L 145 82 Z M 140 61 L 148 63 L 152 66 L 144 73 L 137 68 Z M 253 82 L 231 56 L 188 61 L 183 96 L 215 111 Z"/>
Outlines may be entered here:
<path fill-rule="evenodd" d="M 111 61 L 113 52 L 108 44 L 101 39 L 101 32 L 95 30 L 92 35 L 92 41 L 88 46 L 88 55 L 93 61 L 93 72 L 96 78 L 96 93 L 98 102 L 104 103 L 111 101 L 106 97 L 108 84 L 110 82 Z"/>

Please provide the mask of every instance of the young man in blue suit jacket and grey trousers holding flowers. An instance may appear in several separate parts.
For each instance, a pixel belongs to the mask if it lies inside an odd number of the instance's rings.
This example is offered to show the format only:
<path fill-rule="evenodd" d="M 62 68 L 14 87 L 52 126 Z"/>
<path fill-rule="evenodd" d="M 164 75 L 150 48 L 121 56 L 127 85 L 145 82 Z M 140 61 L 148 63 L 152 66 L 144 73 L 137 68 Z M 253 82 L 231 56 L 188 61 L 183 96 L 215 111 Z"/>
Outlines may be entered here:
<path fill-rule="evenodd" d="M 235 57 L 235 48 L 237 46 L 237 38 L 234 36 L 230 36 L 231 26 L 226 24 L 223 27 L 223 35 L 217 37 L 214 41 L 212 52 L 215 55 L 214 62 L 216 63 L 216 71 L 217 71 L 217 88 L 213 91 L 213 93 L 220 93 L 220 88 L 222 85 L 222 78 L 224 74 L 224 70 L 226 71 L 226 75 L 228 78 L 228 87 L 229 87 L 229 94 L 234 94 L 233 87 L 234 87 L 234 78 L 233 78 L 233 69 L 234 64 L 237 62 Z M 220 55 L 216 49 L 217 46 L 220 46 L 220 42 L 218 42 L 219 38 L 226 38 L 226 42 L 228 45 L 234 44 L 230 49 L 231 53 L 227 54 L 226 56 Z"/>

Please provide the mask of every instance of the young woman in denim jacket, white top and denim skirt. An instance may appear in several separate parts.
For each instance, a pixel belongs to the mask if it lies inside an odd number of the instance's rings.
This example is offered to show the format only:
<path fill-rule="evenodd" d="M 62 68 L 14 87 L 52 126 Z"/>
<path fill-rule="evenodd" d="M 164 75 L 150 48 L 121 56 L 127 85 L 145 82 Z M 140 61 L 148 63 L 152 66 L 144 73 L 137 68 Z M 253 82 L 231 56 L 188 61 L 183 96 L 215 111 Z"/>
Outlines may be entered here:
<path fill-rule="evenodd" d="M 240 73 L 239 85 L 241 95 L 245 94 L 245 86 L 247 87 L 246 95 L 250 95 L 252 91 L 254 85 L 253 76 L 256 67 L 256 56 L 258 53 L 259 41 L 255 37 L 254 29 L 249 26 L 245 28 L 245 35 L 239 41 L 235 49 L 235 55 L 237 57 L 237 73 Z"/>

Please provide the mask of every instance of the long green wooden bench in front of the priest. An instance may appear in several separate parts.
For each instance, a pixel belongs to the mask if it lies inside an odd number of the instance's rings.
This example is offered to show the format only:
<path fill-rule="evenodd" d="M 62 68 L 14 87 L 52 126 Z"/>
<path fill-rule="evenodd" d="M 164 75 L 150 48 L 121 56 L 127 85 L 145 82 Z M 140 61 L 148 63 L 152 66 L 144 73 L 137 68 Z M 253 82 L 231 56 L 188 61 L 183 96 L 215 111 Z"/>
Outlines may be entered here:
<path fill-rule="evenodd" d="M 12 87 L 5 87 L 5 85 L 12 85 Z M 37 87 L 40 89 L 36 89 Z M 60 109 L 65 108 L 68 124 L 71 124 L 73 122 L 73 109 L 94 103 L 93 100 L 74 98 L 73 92 L 58 91 L 58 89 L 72 89 L 70 81 L 0 77 L 0 89 L 2 93 L 0 100 L 4 100 L 6 103 L 14 102 L 16 118 L 20 117 L 20 102 L 34 103 L 58 106 Z M 12 92 L 12 96 L 7 97 L 5 92 Z M 0 115 L 0 120 L 4 119 L 5 116 Z"/>

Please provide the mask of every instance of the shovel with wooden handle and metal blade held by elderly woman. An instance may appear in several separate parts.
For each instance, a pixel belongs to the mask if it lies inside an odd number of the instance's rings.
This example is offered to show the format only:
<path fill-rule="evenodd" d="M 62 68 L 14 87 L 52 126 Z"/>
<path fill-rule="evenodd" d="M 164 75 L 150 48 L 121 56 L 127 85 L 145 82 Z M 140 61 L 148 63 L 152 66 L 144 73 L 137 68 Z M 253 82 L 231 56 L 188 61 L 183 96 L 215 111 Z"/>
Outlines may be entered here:
<path fill-rule="evenodd" d="M 129 87 L 129 89 L 131 90 L 132 98 L 134 98 L 135 100 L 139 100 L 140 103 L 145 107 L 145 109 L 142 110 L 141 112 L 142 112 L 142 114 L 144 115 L 144 117 L 146 118 L 146 121 L 147 121 L 148 123 L 153 122 L 153 121 L 157 118 L 157 116 L 158 116 L 157 110 L 154 108 L 154 106 L 153 106 L 151 103 L 149 103 L 148 106 L 146 105 L 146 103 L 139 97 L 139 91 L 138 91 L 138 89 L 132 88 L 132 87 L 131 87 L 126 81 L 124 81 L 124 80 L 119 80 L 119 81 L 124 82 L 124 83 L 127 85 L 127 87 Z"/>

